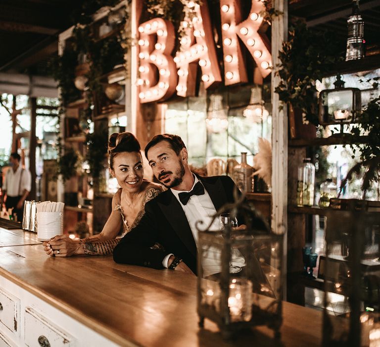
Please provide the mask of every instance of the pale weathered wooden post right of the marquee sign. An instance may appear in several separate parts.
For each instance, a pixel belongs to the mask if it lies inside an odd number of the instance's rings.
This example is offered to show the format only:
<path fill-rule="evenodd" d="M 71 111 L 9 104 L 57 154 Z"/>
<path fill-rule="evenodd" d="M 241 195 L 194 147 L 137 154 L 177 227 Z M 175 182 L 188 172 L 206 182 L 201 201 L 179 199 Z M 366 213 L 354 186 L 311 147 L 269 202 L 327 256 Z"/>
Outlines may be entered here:
<path fill-rule="evenodd" d="M 274 0 L 274 8 L 283 14 L 272 21 L 272 230 L 284 235 L 284 298 L 286 297 L 286 256 L 287 256 L 287 113 L 286 105 L 281 105 L 279 95 L 274 92 L 280 82 L 275 74 L 276 65 L 280 63 L 279 51 L 287 38 L 287 1 Z"/>

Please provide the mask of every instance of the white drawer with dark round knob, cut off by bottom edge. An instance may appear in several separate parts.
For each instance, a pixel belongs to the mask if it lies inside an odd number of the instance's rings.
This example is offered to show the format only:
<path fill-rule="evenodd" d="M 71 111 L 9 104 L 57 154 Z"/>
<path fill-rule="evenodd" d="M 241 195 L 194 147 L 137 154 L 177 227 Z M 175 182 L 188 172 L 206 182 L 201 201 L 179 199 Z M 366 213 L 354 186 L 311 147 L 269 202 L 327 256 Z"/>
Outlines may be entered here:
<path fill-rule="evenodd" d="M 25 344 L 29 347 L 72 347 L 73 338 L 33 308 L 25 308 Z"/>

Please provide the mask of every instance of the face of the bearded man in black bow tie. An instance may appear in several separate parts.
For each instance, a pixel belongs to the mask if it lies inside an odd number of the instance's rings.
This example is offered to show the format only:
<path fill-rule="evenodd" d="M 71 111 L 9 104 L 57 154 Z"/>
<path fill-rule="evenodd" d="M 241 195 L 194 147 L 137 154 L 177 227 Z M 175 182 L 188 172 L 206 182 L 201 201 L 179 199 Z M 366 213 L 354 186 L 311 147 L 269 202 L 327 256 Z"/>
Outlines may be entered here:
<path fill-rule="evenodd" d="M 174 188 L 182 183 L 185 167 L 181 153 L 177 155 L 167 141 L 150 147 L 147 156 L 153 174 L 165 187 Z"/>

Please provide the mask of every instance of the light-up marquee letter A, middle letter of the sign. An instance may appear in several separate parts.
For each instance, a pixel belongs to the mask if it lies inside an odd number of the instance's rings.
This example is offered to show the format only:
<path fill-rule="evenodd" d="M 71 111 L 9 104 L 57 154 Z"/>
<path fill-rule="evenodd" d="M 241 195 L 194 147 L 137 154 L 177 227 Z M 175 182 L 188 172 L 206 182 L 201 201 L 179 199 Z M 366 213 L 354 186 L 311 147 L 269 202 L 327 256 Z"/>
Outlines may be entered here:
<path fill-rule="evenodd" d="M 188 27 L 185 30 L 185 35 L 181 39 L 180 51 L 174 58 L 179 68 L 177 94 L 183 97 L 194 95 L 197 61 L 206 89 L 215 82 L 222 81 L 207 1 L 202 1 L 201 6 L 192 1 L 189 1 L 189 4 L 194 7 L 193 11 L 195 12 L 195 16 L 192 18 L 192 28 Z"/>

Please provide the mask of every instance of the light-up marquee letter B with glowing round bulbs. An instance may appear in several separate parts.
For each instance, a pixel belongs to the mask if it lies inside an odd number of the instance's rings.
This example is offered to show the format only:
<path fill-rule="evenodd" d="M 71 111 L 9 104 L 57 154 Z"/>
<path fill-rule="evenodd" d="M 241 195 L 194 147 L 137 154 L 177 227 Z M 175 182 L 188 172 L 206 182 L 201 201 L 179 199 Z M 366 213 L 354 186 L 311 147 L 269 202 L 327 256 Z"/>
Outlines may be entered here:
<path fill-rule="evenodd" d="M 138 30 L 140 78 L 137 84 L 140 85 L 140 102 L 167 99 L 175 92 L 177 83 L 176 66 L 170 55 L 175 42 L 173 24 L 162 18 L 154 18 L 142 23 Z M 156 43 L 153 34 L 157 34 Z M 158 81 L 153 65 L 158 69 Z"/>

